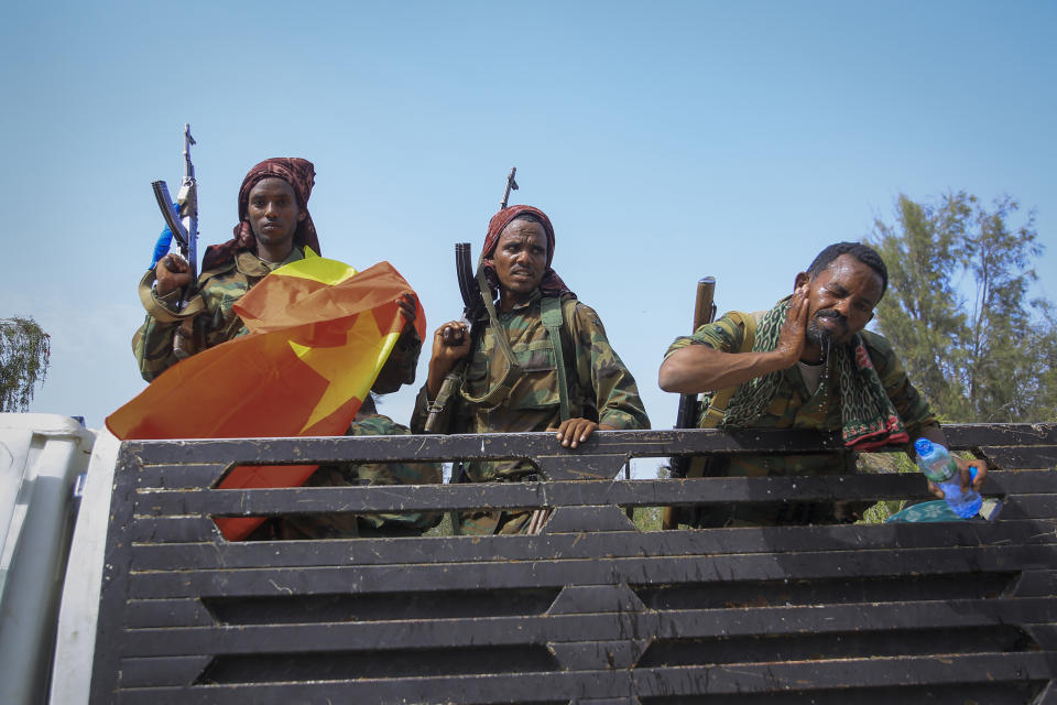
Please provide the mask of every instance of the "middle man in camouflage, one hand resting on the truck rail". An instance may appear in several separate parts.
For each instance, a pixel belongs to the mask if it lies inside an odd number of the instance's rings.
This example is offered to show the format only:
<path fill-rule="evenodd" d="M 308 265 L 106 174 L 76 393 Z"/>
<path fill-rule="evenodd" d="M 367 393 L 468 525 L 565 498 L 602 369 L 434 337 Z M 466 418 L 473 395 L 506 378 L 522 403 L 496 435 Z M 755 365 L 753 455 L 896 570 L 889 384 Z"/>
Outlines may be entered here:
<path fill-rule="evenodd" d="M 497 322 L 477 322 L 473 339 L 461 322 L 440 326 L 434 335 L 429 377 L 415 404 L 411 426 L 423 433 L 429 405 L 437 400 L 445 376 L 468 357 L 460 393 L 440 400 L 438 430 L 446 433 L 554 431 L 557 442 L 577 447 L 596 429 L 649 429 L 634 378 L 609 345 L 598 314 L 576 300 L 551 269 L 554 228 L 531 206 L 497 213 L 484 240 L 483 265 L 490 292 L 498 295 Z M 560 340 L 554 341 L 542 319 L 545 299 L 560 302 Z M 523 376 L 498 405 L 472 403 L 492 389 L 506 371 L 497 335 L 506 338 Z M 558 368 L 552 345 L 562 348 L 567 380 L 568 417 L 562 417 Z M 472 482 L 534 479 L 535 468 L 521 460 L 467 463 Z M 464 512 L 465 533 L 520 533 L 528 512 Z"/>

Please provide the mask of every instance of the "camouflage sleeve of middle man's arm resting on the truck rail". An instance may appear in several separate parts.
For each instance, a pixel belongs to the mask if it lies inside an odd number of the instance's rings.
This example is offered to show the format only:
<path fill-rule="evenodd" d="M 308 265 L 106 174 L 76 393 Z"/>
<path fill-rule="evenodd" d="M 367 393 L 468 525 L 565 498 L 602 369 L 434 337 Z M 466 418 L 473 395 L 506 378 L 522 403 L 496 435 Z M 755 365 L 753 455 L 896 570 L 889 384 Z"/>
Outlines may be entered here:
<path fill-rule="evenodd" d="M 576 302 L 568 318 L 578 382 L 585 392 L 593 390 L 598 422 L 621 430 L 649 429 L 650 419 L 639 397 L 635 378 L 609 344 L 598 314 L 590 306 Z"/>

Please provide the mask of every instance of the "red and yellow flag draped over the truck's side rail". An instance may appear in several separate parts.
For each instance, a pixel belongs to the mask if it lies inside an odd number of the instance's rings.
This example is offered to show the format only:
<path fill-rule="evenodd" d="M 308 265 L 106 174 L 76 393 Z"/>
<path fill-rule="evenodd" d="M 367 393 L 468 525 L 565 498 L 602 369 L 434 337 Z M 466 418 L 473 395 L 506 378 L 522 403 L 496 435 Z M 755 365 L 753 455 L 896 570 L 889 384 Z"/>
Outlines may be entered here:
<path fill-rule="evenodd" d="M 107 417 L 121 440 L 342 435 L 404 327 L 414 294 L 389 262 L 356 270 L 306 252 L 235 305 L 250 334 L 173 366 Z M 416 301 L 415 328 L 425 339 Z M 316 466 L 237 467 L 220 488 L 295 487 Z M 238 540 L 263 521 L 218 519 Z"/>

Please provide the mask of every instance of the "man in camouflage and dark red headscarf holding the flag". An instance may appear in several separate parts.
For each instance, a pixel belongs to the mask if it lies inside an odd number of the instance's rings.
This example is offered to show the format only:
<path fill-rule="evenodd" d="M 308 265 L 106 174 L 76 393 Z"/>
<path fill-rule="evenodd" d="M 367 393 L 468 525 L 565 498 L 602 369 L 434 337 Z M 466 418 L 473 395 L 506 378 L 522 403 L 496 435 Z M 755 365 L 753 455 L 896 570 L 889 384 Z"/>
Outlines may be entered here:
<path fill-rule="evenodd" d="M 248 333 L 232 306 L 259 281 L 283 264 L 305 257 L 305 248 L 319 253 L 319 240 L 308 213 L 315 182 L 312 162 L 270 159 L 246 175 L 239 189 L 239 224 L 235 237 L 206 250 L 201 275 L 187 306 L 184 289 L 190 267 L 177 254 L 162 258 L 140 284 L 146 321 L 132 340 L 143 379 L 151 381 L 179 359 Z M 156 278 L 156 283 L 154 280 Z M 154 283 L 152 288 L 151 284 Z M 372 392 L 396 391 L 415 380 L 422 341 L 412 325 L 413 301 L 402 301 L 407 325 L 375 380 Z M 375 412 L 374 397 L 360 406 L 348 435 L 403 435 L 405 426 Z M 364 464 L 320 467 L 307 486 L 428 484 L 440 481 L 435 463 Z M 251 538 L 320 539 L 362 534 L 417 534 L 435 525 L 436 512 L 407 514 L 292 516 L 262 524 Z"/>

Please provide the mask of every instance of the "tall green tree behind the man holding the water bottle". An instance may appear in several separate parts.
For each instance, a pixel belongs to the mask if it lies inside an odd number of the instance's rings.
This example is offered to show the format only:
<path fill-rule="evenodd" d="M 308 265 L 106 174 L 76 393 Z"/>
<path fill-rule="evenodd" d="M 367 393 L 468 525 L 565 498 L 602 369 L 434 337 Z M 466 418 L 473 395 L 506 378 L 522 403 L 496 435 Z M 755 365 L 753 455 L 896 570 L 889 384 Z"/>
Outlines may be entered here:
<path fill-rule="evenodd" d="M 1028 212 L 1010 197 L 991 207 L 947 194 L 937 204 L 901 195 L 895 225 L 869 241 L 889 267 L 881 332 L 915 386 L 951 421 L 1046 421 L 1057 413 L 1057 317 L 1028 300 L 1042 253 Z"/>

